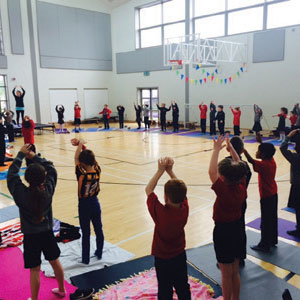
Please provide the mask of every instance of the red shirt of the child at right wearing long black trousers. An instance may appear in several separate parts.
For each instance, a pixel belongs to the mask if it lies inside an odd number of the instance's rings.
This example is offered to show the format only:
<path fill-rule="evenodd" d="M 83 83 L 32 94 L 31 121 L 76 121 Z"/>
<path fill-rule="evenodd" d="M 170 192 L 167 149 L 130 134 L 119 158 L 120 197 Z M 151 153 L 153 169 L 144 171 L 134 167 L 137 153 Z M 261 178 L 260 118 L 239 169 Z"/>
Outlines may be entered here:
<path fill-rule="evenodd" d="M 255 160 L 254 171 L 258 173 L 258 186 L 261 198 L 271 197 L 277 194 L 275 181 L 276 162 L 274 158 L 267 160 Z"/>

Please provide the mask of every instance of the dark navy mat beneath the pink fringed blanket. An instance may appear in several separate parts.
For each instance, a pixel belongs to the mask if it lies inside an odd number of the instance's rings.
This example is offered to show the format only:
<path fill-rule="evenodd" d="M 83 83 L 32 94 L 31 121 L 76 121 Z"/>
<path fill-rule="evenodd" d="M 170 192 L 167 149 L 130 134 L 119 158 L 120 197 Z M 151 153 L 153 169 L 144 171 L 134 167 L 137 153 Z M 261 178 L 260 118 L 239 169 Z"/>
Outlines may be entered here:
<path fill-rule="evenodd" d="M 145 256 L 129 262 L 117 264 L 102 270 L 88 272 L 71 278 L 73 285 L 80 289 L 95 288 L 96 290 L 104 288 L 106 285 L 114 284 L 120 279 L 125 279 L 131 275 L 138 274 L 145 270 L 154 267 L 153 256 Z M 193 266 L 188 264 L 188 274 L 195 278 L 200 279 L 202 282 L 211 285 L 214 289 L 216 296 L 222 294 L 221 287 L 212 282 L 209 278 L 200 273 Z"/>

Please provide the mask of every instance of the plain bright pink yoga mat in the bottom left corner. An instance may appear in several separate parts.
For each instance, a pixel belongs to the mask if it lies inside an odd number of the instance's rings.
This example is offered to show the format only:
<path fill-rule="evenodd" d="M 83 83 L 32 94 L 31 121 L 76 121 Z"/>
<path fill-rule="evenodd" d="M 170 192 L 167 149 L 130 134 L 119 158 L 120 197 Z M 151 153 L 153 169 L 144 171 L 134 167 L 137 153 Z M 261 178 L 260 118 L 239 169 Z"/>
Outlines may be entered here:
<path fill-rule="evenodd" d="M 0 251 L 0 299 L 1 300 L 27 300 L 30 293 L 30 271 L 24 269 L 22 251 L 17 248 L 7 248 Z M 76 287 L 65 282 L 67 296 L 74 293 Z M 40 300 L 57 300 L 51 290 L 57 287 L 54 278 L 45 277 L 41 272 L 41 286 L 39 292 Z"/>

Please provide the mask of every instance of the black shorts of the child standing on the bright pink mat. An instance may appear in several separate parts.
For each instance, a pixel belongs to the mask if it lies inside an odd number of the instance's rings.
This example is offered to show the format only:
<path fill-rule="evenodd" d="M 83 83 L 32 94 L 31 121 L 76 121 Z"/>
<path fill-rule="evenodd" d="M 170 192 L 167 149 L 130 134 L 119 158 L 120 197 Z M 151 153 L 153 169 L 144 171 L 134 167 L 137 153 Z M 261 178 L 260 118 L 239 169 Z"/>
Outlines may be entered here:
<path fill-rule="evenodd" d="M 60 249 L 57 246 L 53 231 L 36 234 L 24 234 L 24 266 L 31 269 L 41 265 L 41 254 L 48 261 L 59 258 Z"/>

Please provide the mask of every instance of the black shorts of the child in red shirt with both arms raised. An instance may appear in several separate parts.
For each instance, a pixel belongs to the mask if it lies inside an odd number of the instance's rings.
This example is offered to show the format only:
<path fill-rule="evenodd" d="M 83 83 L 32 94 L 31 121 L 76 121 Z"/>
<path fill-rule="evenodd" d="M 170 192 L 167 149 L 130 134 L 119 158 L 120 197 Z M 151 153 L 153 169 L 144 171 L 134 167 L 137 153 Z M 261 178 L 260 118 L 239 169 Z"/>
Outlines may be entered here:
<path fill-rule="evenodd" d="M 243 224 L 241 219 L 230 223 L 215 223 L 213 239 L 217 261 L 221 264 L 232 264 L 242 259 Z"/>

